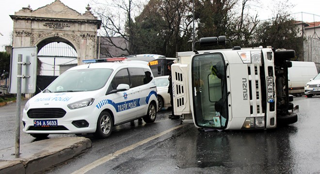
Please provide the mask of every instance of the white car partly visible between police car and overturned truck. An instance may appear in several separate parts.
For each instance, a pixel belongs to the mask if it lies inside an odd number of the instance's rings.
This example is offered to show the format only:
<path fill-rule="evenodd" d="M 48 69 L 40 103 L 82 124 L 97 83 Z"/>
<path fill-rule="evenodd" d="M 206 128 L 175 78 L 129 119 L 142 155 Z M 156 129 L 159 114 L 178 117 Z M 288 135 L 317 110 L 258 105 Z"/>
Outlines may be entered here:
<path fill-rule="evenodd" d="M 170 94 L 168 93 L 169 75 L 155 77 L 157 86 L 158 111 L 164 107 L 171 107 Z"/>

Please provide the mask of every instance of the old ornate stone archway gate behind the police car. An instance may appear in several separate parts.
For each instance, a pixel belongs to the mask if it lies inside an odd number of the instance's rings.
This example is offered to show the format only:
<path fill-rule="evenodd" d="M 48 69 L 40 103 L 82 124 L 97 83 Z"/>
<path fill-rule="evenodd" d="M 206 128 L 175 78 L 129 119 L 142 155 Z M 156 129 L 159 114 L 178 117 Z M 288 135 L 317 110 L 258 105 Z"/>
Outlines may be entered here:
<path fill-rule="evenodd" d="M 96 58 L 96 34 L 101 21 L 90 12 L 80 14 L 60 0 L 32 10 L 22 8 L 10 15 L 14 20 L 13 47 L 37 46 L 38 51 L 51 42 L 64 42 L 78 54 L 78 65 L 84 59 Z"/>

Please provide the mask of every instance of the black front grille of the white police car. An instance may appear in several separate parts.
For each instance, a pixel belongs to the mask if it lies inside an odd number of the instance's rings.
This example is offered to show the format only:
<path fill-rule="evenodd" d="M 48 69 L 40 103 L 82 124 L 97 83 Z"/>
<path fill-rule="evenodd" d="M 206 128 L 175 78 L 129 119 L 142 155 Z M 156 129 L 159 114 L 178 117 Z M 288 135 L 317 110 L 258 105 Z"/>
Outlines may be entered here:
<path fill-rule="evenodd" d="M 29 118 L 61 118 L 65 113 L 61 108 L 37 108 L 27 112 Z"/>

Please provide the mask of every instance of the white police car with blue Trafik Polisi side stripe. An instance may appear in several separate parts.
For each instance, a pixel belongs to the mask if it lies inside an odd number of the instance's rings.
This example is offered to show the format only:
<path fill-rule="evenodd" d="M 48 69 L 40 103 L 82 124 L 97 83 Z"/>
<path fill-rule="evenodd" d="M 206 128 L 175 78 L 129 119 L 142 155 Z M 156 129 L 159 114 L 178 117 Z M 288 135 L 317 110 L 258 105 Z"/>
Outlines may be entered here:
<path fill-rule="evenodd" d="M 101 59 L 88 62 L 96 60 Z M 56 133 L 106 138 L 113 126 L 138 118 L 154 122 L 157 105 L 157 88 L 145 63 L 89 63 L 62 73 L 26 103 L 23 131 L 35 138 Z"/>

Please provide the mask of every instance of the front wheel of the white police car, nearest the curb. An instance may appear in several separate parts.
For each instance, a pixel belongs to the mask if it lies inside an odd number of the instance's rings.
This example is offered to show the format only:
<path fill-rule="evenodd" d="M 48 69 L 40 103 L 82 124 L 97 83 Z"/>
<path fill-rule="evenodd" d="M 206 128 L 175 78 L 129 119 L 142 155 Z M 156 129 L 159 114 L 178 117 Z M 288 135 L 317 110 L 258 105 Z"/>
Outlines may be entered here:
<path fill-rule="evenodd" d="M 103 111 L 99 115 L 96 123 L 95 136 L 97 138 L 107 138 L 111 134 L 112 127 L 113 127 L 112 116 L 108 112 Z"/>

